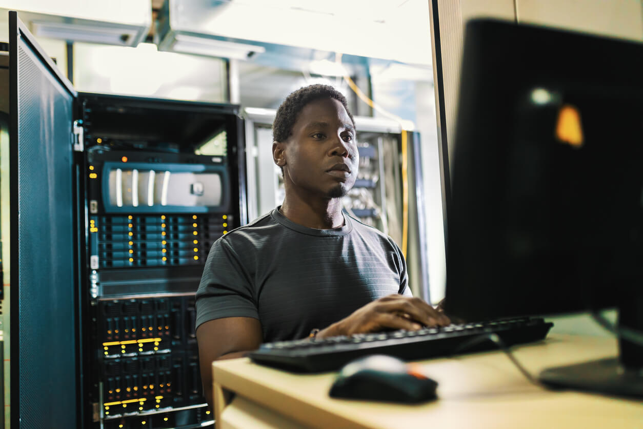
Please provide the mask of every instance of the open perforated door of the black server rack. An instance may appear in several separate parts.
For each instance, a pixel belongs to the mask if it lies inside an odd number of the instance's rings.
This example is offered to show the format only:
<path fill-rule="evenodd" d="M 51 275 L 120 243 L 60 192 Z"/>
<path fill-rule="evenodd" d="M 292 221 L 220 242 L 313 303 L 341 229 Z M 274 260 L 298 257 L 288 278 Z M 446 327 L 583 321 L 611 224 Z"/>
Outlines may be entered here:
<path fill-rule="evenodd" d="M 9 24 L 11 422 L 13 428 L 73 428 L 76 93 L 15 12 Z"/>

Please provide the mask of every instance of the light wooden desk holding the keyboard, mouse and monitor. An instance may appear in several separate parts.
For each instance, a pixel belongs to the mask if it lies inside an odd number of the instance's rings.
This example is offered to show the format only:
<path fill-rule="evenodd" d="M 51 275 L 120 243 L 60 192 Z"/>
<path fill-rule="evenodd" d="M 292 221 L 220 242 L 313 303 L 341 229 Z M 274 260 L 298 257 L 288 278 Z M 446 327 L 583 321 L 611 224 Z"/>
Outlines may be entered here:
<path fill-rule="evenodd" d="M 514 349 L 541 369 L 615 356 L 616 341 L 550 334 Z M 213 363 L 217 429 L 228 428 L 643 428 L 643 403 L 580 392 L 554 392 L 527 381 L 502 352 L 420 361 L 439 382 L 439 399 L 399 405 L 333 399 L 335 373 L 298 375 L 248 358 Z M 223 390 L 235 392 L 225 403 Z"/>

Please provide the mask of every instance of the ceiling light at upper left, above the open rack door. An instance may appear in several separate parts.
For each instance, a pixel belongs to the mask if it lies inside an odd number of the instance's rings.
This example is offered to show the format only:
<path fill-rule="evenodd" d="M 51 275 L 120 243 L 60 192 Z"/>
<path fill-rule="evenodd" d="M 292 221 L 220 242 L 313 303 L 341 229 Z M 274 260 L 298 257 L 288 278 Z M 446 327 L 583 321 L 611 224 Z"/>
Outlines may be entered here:
<path fill-rule="evenodd" d="M 137 31 L 127 28 L 96 25 L 33 21 L 32 32 L 39 37 L 66 41 L 129 45 Z"/>

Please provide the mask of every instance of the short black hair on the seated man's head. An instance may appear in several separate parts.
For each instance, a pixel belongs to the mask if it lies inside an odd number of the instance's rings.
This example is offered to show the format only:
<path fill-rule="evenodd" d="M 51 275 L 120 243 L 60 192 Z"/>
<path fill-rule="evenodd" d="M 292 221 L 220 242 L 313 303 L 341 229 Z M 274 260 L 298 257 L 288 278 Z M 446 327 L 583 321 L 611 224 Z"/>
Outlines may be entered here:
<path fill-rule="evenodd" d="M 320 98 L 334 98 L 346 109 L 350 121 L 355 126 L 353 115 L 350 114 L 346 97 L 330 85 L 314 84 L 297 89 L 287 96 L 277 109 L 275 122 L 273 122 L 273 141 L 285 141 L 293 134 L 293 126 L 299 113 L 305 105 Z"/>

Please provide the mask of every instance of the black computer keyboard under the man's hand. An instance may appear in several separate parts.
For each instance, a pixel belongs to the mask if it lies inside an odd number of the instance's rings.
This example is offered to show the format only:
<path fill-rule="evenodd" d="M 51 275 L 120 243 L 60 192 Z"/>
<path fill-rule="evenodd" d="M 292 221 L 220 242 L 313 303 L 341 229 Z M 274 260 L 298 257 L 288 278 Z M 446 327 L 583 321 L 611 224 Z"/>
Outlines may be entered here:
<path fill-rule="evenodd" d="M 349 361 L 367 354 L 421 360 L 498 349 L 491 340 L 473 341 L 492 333 L 498 334 L 507 346 L 530 343 L 543 340 L 553 325 L 543 318 L 514 318 L 426 327 L 419 331 L 280 341 L 262 344 L 248 356 L 256 363 L 293 372 L 324 372 L 338 370 Z"/>

